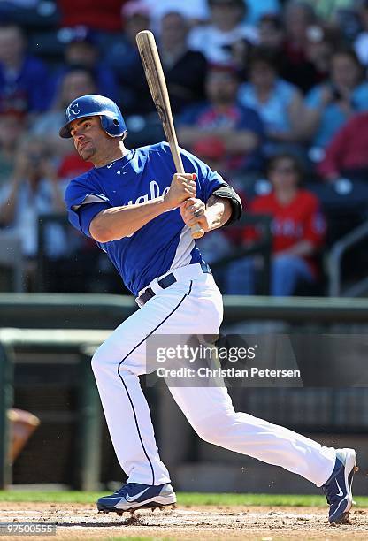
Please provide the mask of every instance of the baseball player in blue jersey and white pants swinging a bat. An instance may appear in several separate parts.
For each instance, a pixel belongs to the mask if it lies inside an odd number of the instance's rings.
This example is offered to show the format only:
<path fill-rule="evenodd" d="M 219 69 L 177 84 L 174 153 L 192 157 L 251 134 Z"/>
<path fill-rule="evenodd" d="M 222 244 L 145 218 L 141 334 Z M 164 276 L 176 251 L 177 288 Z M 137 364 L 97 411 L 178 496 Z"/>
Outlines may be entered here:
<path fill-rule="evenodd" d="M 118 106 L 83 95 L 66 110 L 61 137 L 94 168 L 73 179 L 65 202 L 73 226 L 111 259 L 140 309 L 96 351 L 92 369 L 112 444 L 127 481 L 97 501 L 103 512 L 133 512 L 176 501 L 160 460 L 149 407 L 139 383 L 146 340 L 153 334 L 216 335 L 223 309 L 209 266 L 190 226 L 204 232 L 242 213 L 234 189 L 196 156 L 181 150 L 176 174 L 170 148 L 128 150 Z M 329 521 L 344 522 L 352 504 L 353 449 L 334 449 L 286 428 L 234 411 L 225 386 L 170 387 L 173 399 L 205 441 L 295 472 L 326 493 Z"/>

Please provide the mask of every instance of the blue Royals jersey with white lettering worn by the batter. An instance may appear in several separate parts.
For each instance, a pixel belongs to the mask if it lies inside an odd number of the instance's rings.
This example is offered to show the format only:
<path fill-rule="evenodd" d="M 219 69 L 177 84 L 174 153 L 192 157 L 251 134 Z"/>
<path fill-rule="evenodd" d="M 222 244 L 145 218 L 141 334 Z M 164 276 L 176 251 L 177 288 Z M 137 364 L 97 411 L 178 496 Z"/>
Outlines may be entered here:
<path fill-rule="evenodd" d="M 196 173 L 198 199 L 207 202 L 216 188 L 226 185 L 219 173 L 211 171 L 196 156 L 183 149 L 180 154 L 184 170 Z M 95 167 L 70 182 L 65 192 L 69 221 L 90 237 L 89 225 L 101 210 L 164 195 L 175 172 L 167 143 L 130 150 L 126 156 Z M 132 235 L 97 245 L 109 256 L 134 295 L 169 270 L 203 262 L 180 209 L 164 212 Z"/>

